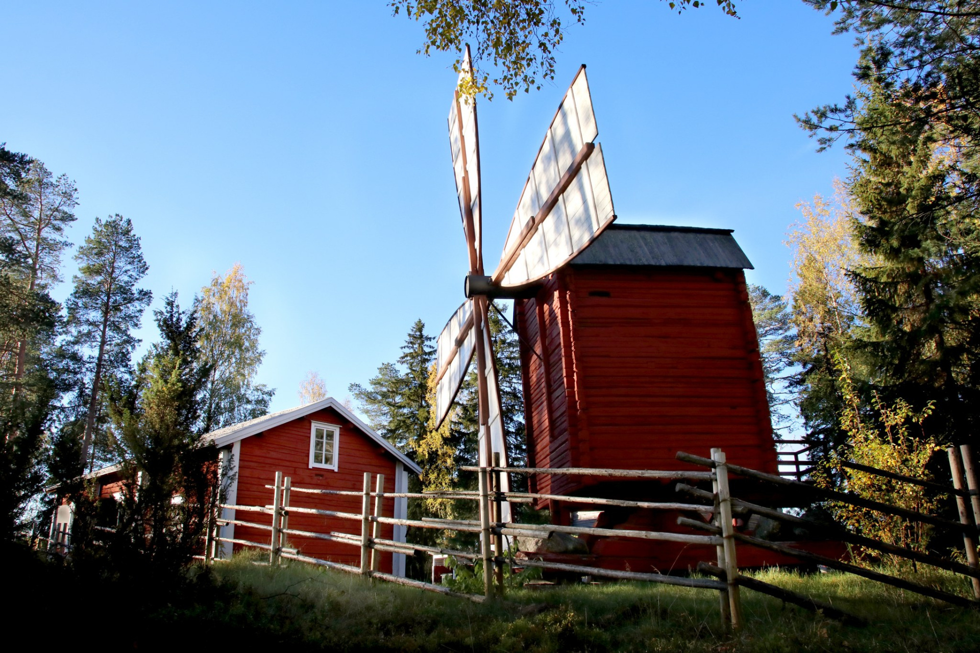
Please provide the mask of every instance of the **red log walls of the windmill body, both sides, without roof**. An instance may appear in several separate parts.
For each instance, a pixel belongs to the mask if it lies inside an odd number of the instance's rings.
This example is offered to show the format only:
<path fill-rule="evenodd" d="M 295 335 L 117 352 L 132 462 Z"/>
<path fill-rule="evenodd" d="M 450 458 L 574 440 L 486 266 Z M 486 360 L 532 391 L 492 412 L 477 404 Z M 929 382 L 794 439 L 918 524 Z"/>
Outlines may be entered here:
<path fill-rule="evenodd" d="M 720 446 L 733 463 L 776 472 L 741 270 L 565 266 L 515 302 L 515 317 L 544 358 L 521 350 L 535 466 L 689 469 L 678 450 Z M 535 483 L 563 494 L 605 485 Z"/>

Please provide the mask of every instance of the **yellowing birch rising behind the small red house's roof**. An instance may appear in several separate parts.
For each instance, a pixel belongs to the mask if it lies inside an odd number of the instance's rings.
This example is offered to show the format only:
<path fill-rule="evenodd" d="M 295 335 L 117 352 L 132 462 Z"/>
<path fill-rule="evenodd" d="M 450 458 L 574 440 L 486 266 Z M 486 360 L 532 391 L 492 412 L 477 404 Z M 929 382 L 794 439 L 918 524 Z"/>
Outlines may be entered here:
<path fill-rule="evenodd" d="M 265 415 L 275 394 L 255 383 L 266 352 L 259 349 L 262 329 L 248 309 L 251 285 L 235 263 L 201 290 L 201 355 L 211 366 L 202 416 L 205 433 Z"/>

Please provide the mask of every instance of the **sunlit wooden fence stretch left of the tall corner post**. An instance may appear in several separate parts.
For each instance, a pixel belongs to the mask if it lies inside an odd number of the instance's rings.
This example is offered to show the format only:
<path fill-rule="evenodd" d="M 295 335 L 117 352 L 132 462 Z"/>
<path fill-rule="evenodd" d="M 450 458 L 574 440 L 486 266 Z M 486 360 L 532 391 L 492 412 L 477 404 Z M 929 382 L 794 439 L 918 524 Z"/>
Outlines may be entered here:
<path fill-rule="evenodd" d="M 495 462 L 497 462 L 495 460 Z M 216 525 L 240 525 L 244 527 L 259 528 L 270 533 L 268 542 L 250 541 L 241 538 L 211 536 L 210 541 L 229 542 L 241 546 L 258 548 L 270 552 L 270 564 L 276 565 L 280 560 L 297 560 L 309 564 L 320 565 L 336 571 L 350 574 L 359 574 L 368 578 L 379 579 L 391 583 L 400 583 L 440 594 L 463 597 L 472 601 L 485 601 L 491 597 L 503 596 L 504 594 L 504 568 L 510 564 L 517 567 L 531 567 L 546 569 L 555 572 L 580 574 L 583 576 L 593 576 L 616 580 L 642 581 L 648 583 L 663 583 L 670 585 L 681 585 L 700 589 L 711 589 L 718 591 L 722 596 L 722 617 L 726 624 L 730 623 L 737 628 L 738 608 L 734 611 L 730 609 L 731 601 L 737 601 L 737 596 L 731 599 L 733 585 L 723 581 L 710 578 L 684 578 L 679 576 L 667 576 L 662 574 L 644 574 L 638 572 L 626 572 L 618 570 L 598 569 L 584 565 L 571 565 L 564 563 L 549 562 L 538 559 L 519 559 L 508 556 L 504 546 L 505 536 L 536 536 L 547 537 L 552 533 L 566 533 L 570 535 L 593 535 L 593 536 L 616 536 L 631 537 L 638 539 L 678 541 L 694 544 L 711 544 L 716 547 L 723 547 L 723 539 L 716 535 L 692 535 L 690 533 L 662 533 L 656 531 L 640 530 L 618 530 L 588 527 L 573 527 L 561 525 L 538 525 L 538 524 L 518 524 L 513 522 L 503 522 L 500 517 L 503 514 L 502 504 L 504 501 L 514 503 L 531 502 L 535 499 L 556 499 L 575 501 L 580 504 L 613 505 L 619 507 L 632 507 L 652 510 L 679 510 L 691 513 L 711 513 L 714 508 L 696 503 L 683 503 L 678 501 L 631 501 L 625 499 L 609 499 L 604 497 L 583 497 L 566 496 L 563 494 L 537 494 L 531 492 L 506 492 L 501 491 L 502 484 L 500 477 L 506 473 L 520 474 L 566 474 L 577 476 L 599 476 L 604 478 L 625 478 L 625 479 L 666 479 L 666 480 L 685 480 L 685 481 L 715 481 L 716 472 L 677 472 L 677 471 L 646 471 L 646 470 L 609 470 L 609 469 L 526 469 L 526 468 L 473 468 L 477 472 L 479 480 L 479 490 L 476 491 L 439 491 L 439 492 L 385 492 L 383 491 L 384 477 L 376 475 L 374 478 L 366 473 L 364 478 L 364 489 L 355 490 L 318 490 L 310 488 L 292 487 L 291 479 L 283 477 L 281 473 L 276 473 L 272 485 L 267 486 L 272 490 L 272 503 L 264 506 L 249 506 L 239 504 L 221 504 L 218 507 L 223 509 L 235 510 L 234 519 L 216 518 Z M 375 489 L 371 490 L 371 481 L 375 482 Z M 726 482 L 722 482 L 726 483 Z M 345 512 L 339 510 L 325 510 L 322 508 L 308 508 L 294 505 L 292 497 L 294 495 L 334 495 L 334 496 L 357 496 L 361 498 L 361 512 Z M 478 520 L 449 520 L 431 519 L 422 520 L 400 519 L 386 517 L 381 514 L 382 499 L 386 497 L 406 497 L 406 498 L 451 498 L 458 500 L 477 501 L 479 504 Z M 373 498 L 373 502 L 371 501 Z M 253 512 L 271 516 L 270 524 L 260 524 L 253 521 L 242 519 L 237 511 Z M 310 531 L 300 531 L 291 529 L 288 526 L 290 514 L 314 514 L 323 517 L 348 520 L 350 522 L 360 522 L 361 535 L 353 533 L 315 533 Z M 412 542 L 395 541 L 381 537 L 380 527 L 382 525 L 394 525 L 404 527 L 414 527 L 422 529 L 449 530 L 461 533 L 478 534 L 480 536 L 480 548 L 478 551 L 462 551 L 438 546 L 415 544 Z M 286 547 L 288 536 L 312 537 L 327 539 L 342 544 L 358 547 L 361 549 L 361 563 L 359 566 L 344 565 L 330 560 L 303 555 L 296 549 Z M 410 579 L 386 574 L 379 571 L 380 552 L 404 553 L 413 555 L 416 552 L 452 555 L 462 560 L 482 561 L 483 565 L 483 584 L 484 592 L 482 595 L 462 594 L 454 592 L 444 585 L 434 583 L 423 583 Z M 731 562 L 734 564 L 734 561 Z M 732 619 L 732 614 L 735 619 Z"/>

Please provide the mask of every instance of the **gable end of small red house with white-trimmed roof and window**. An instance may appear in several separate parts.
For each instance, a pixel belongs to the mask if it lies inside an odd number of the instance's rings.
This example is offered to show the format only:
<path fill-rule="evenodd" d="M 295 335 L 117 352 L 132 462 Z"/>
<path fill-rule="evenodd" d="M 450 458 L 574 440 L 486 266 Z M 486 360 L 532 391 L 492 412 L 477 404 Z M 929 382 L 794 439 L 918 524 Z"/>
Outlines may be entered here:
<path fill-rule="evenodd" d="M 384 475 L 384 490 L 408 491 L 409 473 L 421 469 L 404 453 L 375 433 L 354 413 L 333 398 L 282 410 L 265 417 L 241 422 L 206 436 L 221 450 L 222 467 L 228 468 L 230 485 L 226 502 L 237 505 L 265 506 L 272 502 L 275 472 L 292 478 L 295 488 L 318 490 L 364 489 L 364 473 Z M 372 489 L 373 489 L 372 481 Z M 361 512 L 361 497 L 335 494 L 310 494 L 293 491 L 290 504 L 305 508 Z M 373 504 L 372 504 L 373 505 Z M 384 499 L 383 515 L 405 519 L 405 498 Z M 225 509 L 222 517 L 236 519 L 234 510 Z M 240 521 L 271 524 L 268 514 L 239 511 Z M 294 512 L 289 528 L 312 533 L 361 534 L 361 523 L 351 520 Z M 269 531 L 241 525 L 228 525 L 221 536 L 267 542 Z M 381 536 L 405 541 L 405 527 L 384 525 Z M 290 536 L 289 545 L 303 555 L 348 565 L 361 564 L 358 547 L 312 537 Z M 222 555 L 229 557 L 240 544 L 224 543 Z M 381 571 L 403 576 L 404 554 L 381 554 Z"/>

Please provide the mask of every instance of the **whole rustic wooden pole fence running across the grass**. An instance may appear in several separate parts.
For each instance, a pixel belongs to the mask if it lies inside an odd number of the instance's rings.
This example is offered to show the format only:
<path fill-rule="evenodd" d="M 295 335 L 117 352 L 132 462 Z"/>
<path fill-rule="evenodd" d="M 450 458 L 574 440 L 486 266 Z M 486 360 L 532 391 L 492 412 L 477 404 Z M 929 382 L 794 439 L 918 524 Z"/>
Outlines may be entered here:
<path fill-rule="evenodd" d="M 972 460 L 968 451 L 964 456 L 967 460 Z M 951 463 L 954 453 L 951 452 Z M 958 460 L 958 452 L 956 452 Z M 769 583 L 742 576 L 738 571 L 738 551 L 737 545 L 752 545 L 770 551 L 775 551 L 784 555 L 792 556 L 810 564 L 824 565 L 831 569 L 837 569 L 862 576 L 864 578 L 901 587 L 908 591 L 930 596 L 948 603 L 964 607 L 980 607 L 980 601 L 957 596 L 949 592 L 941 591 L 933 587 L 928 587 L 918 583 L 911 583 L 907 580 L 888 576 L 886 574 L 865 569 L 851 562 L 843 562 L 833 558 L 817 555 L 808 551 L 786 545 L 785 543 L 769 541 L 756 536 L 749 536 L 736 532 L 733 522 L 733 513 L 752 512 L 760 516 L 790 524 L 794 528 L 804 528 L 812 534 L 822 539 L 840 540 L 858 546 L 874 549 L 913 560 L 918 563 L 933 565 L 941 569 L 955 572 L 969 578 L 974 583 L 976 598 L 980 598 L 980 567 L 976 560 L 976 538 L 977 523 L 980 523 L 980 491 L 976 488 L 976 476 L 970 477 L 972 464 L 968 465 L 966 473 L 966 484 L 969 489 L 963 489 L 959 485 L 955 489 L 945 489 L 956 494 L 960 504 L 960 522 L 952 522 L 940 517 L 925 515 L 907 510 L 898 506 L 865 499 L 850 493 L 837 490 L 827 490 L 815 488 L 809 484 L 798 480 L 786 479 L 779 475 L 766 474 L 757 470 L 732 465 L 727 463 L 725 454 L 720 449 L 711 450 L 711 458 L 678 452 L 677 458 L 685 462 L 702 465 L 708 468 L 704 472 L 684 472 L 684 471 L 647 471 L 647 470 L 611 470 L 611 469 L 586 469 L 586 468 L 564 468 L 564 469 L 545 469 L 545 468 L 514 468 L 500 467 L 499 459 L 495 459 L 494 467 L 465 467 L 465 471 L 473 471 L 477 474 L 478 490 L 461 491 L 449 490 L 439 492 L 384 492 L 384 476 L 377 475 L 375 489 L 371 490 L 372 477 L 369 473 L 364 476 L 364 488 L 361 491 L 352 490 L 317 490 L 309 488 L 292 487 L 289 477 L 283 478 L 281 472 L 275 474 L 274 483 L 267 486 L 271 490 L 272 502 L 265 506 L 249 506 L 237 504 L 221 504 L 220 508 L 234 510 L 235 519 L 215 519 L 216 525 L 241 525 L 268 531 L 270 539 L 268 542 L 250 541 L 238 538 L 221 537 L 210 535 L 209 540 L 215 542 L 217 549 L 218 542 L 228 542 L 242 546 L 254 547 L 269 551 L 270 565 L 277 565 L 280 560 L 297 560 L 301 562 L 320 565 L 330 569 L 359 574 L 368 578 L 379 579 L 391 583 L 401 583 L 420 589 L 439 592 L 442 594 L 459 596 L 472 601 L 485 601 L 494 596 L 503 596 L 504 568 L 511 564 L 518 567 L 532 567 L 551 570 L 555 572 L 581 574 L 583 576 L 593 576 L 600 578 L 644 581 L 650 583 L 665 583 L 672 585 L 682 585 L 711 589 L 719 593 L 719 611 L 722 622 L 733 629 L 740 628 L 742 620 L 742 610 L 739 590 L 747 587 L 755 591 L 760 591 L 784 601 L 791 602 L 813 611 L 822 611 L 824 615 L 833 619 L 840 620 L 849 624 L 860 624 L 858 617 L 835 608 L 832 605 L 811 599 L 809 596 L 792 592 L 788 589 L 777 587 Z M 873 468 L 861 468 L 861 471 L 873 470 Z M 873 470 L 871 473 L 881 473 L 882 476 L 889 476 L 890 473 Z M 532 492 L 502 491 L 500 477 L 502 474 L 548 474 L 548 475 L 578 475 L 604 478 L 621 479 L 669 479 L 677 480 L 676 489 L 689 495 L 704 500 L 705 503 L 687 502 L 657 502 L 657 501 L 632 501 L 625 499 L 611 499 L 604 497 L 587 496 L 568 496 L 562 494 L 541 494 Z M 887 542 L 872 539 L 870 537 L 859 536 L 855 533 L 840 528 L 833 533 L 826 532 L 825 524 L 817 524 L 804 517 L 798 517 L 788 513 L 780 512 L 773 508 L 761 506 L 756 503 L 745 501 L 733 497 L 729 488 L 729 475 L 737 475 L 744 478 L 754 479 L 776 487 L 793 487 L 797 490 L 809 491 L 817 500 L 845 501 L 852 505 L 878 510 L 885 514 L 897 515 L 907 520 L 931 524 L 943 528 L 955 529 L 963 534 L 964 545 L 967 550 L 967 563 L 962 564 L 955 560 L 941 558 L 928 553 L 914 551 L 904 547 L 896 546 Z M 896 479 L 898 475 L 892 474 L 889 478 Z M 962 476 L 962 474 L 960 474 Z M 955 474 L 956 477 L 956 474 Z M 919 482 L 909 477 L 902 477 L 896 480 L 904 482 L 915 482 L 924 485 L 927 482 Z M 702 490 L 689 485 L 692 482 L 711 482 L 711 491 Z M 683 483 L 687 482 L 687 483 Z M 933 484 L 935 485 L 935 484 Z M 341 495 L 358 496 L 361 500 L 361 512 L 341 512 L 336 510 L 324 510 L 319 508 L 307 508 L 294 504 L 294 494 L 312 495 Z M 395 517 L 386 517 L 382 514 L 381 506 L 384 497 L 404 497 L 404 498 L 452 498 L 458 500 L 477 501 L 479 507 L 478 520 L 447 520 L 447 519 L 422 519 L 410 520 Z M 373 498 L 373 502 L 371 501 Z M 966 510 L 965 499 L 969 498 L 974 514 L 969 514 Z M 577 504 L 593 505 L 612 505 L 618 507 L 631 507 L 649 510 L 671 510 L 691 513 L 711 513 L 711 522 L 703 520 L 693 520 L 686 517 L 678 518 L 680 526 L 693 528 L 705 532 L 705 535 L 690 533 L 667 533 L 642 530 L 620 530 L 604 529 L 594 527 L 575 527 L 561 526 L 554 524 L 537 525 L 522 524 L 513 522 L 502 522 L 502 504 L 504 501 L 512 503 L 526 503 L 535 499 L 552 499 L 569 501 Z M 264 513 L 271 516 L 269 524 L 259 524 L 252 521 L 245 521 L 238 518 L 239 512 Z M 349 533 L 314 533 L 309 531 L 299 531 L 290 528 L 290 514 L 314 514 L 323 517 L 339 518 L 351 522 L 360 523 L 360 535 Z M 393 525 L 403 527 L 413 527 L 421 529 L 449 530 L 462 533 L 479 534 L 480 545 L 478 551 L 453 550 L 438 546 L 428 546 L 414 544 L 411 542 L 396 541 L 380 536 L 381 525 Z M 552 533 L 566 533 L 570 535 L 591 535 L 591 536 L 615 536 L 630 537 L 638 539 L 676 541 L 692 544 L 710 544 L 715 546 L 717 564 L 712 562 L 702 562 L 699 571 L 716 577 L 711 578 L 683 578 L 667 576 L 662 574 L 648 574 L 640 572 L 616 571 L 599 569 L 584 565 L 572 565 L 565 563 L 549 562 L 541 559 L 518 559 L 509 558 L 504 546 L 506 536 L 535 536 L 548 537 Z M 311 537 L 339 542 L 351 547 L 357 547 L 361 552 L 360 565 L 346 565 L 330 560 L 303 555 L 301 551 L 286 546 L 287 536 Z M 379 552 L 402 553 L 413 555 L 417 552 L 431 553 L 438 555 L 452 555 L 456 558 L 469 561 L 482 561 L 483 567 L 483 594 L 463 594 L 451 590 L 449 587 L 434 583 L 423 583 L 406 578 L 394 576 L 379 571 Z M 206 554 L 210 559 L 212 549 Z M 972 557 L 970 557 L 972 555 Z"/>

